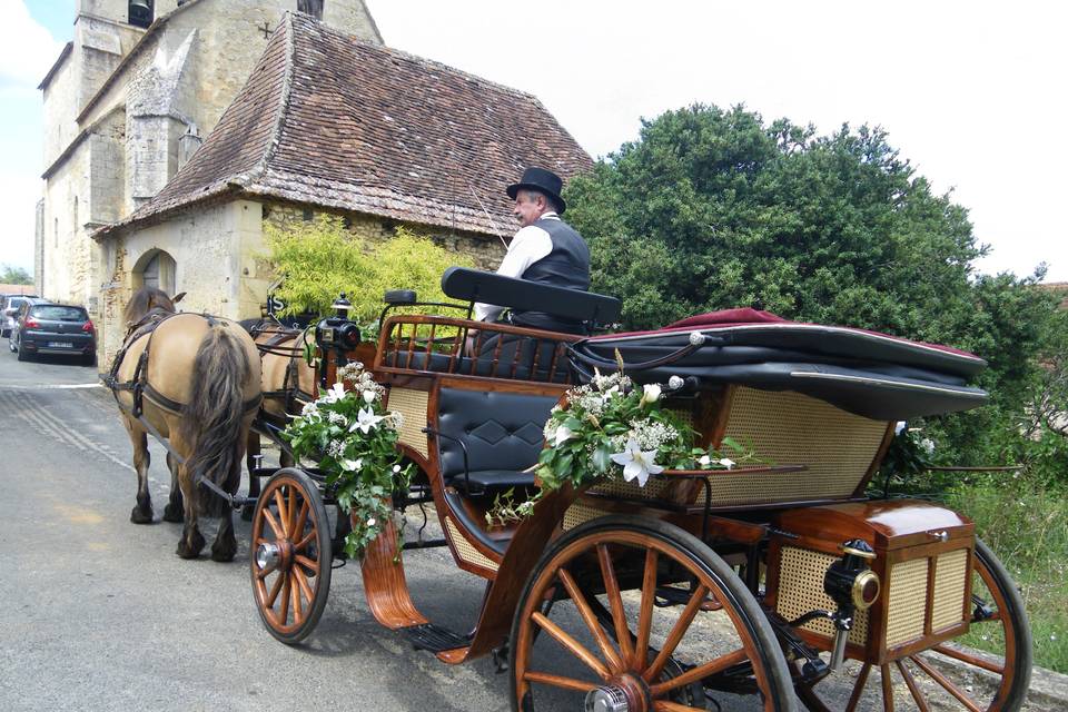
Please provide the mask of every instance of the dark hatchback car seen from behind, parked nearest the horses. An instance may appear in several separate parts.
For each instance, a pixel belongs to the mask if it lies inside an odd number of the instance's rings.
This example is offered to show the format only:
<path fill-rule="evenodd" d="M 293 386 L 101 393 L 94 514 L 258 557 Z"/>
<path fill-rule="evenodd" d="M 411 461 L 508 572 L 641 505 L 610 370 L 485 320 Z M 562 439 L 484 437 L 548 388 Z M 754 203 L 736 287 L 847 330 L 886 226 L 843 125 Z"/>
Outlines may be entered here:
<path fill-rule="evenodd" d="M 82 363 L 92 365 L 97 332 L 85 307 L 28 299 L 19 308 L 8 348 L 19 353 L 19 360 L 37 354 L 65 354 L 80 356 Z"/>

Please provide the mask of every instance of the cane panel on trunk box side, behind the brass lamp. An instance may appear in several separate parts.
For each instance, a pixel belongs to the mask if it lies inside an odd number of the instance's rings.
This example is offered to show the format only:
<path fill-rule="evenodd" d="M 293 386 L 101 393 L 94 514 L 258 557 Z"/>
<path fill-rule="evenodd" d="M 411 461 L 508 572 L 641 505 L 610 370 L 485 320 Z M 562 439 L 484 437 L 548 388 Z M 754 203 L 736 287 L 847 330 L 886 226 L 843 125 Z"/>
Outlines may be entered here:
<path fill-rule="evenodd" d="M 779 596 L 775 611 L 788 621 L 821 609 L 833 611 L 837 606 L 823 591 L 823 575 L 837 561 L 837 556 L 809 548 L 784 546 L 779 563 Z M 834 636 L 834 625 L 827 619 L 817 619 L 801 626 L 807 631 Z M 864 645 L 868 642 L 868 611 L 858 611 L 853 616 L 853 630 L 849 642 Z"/>

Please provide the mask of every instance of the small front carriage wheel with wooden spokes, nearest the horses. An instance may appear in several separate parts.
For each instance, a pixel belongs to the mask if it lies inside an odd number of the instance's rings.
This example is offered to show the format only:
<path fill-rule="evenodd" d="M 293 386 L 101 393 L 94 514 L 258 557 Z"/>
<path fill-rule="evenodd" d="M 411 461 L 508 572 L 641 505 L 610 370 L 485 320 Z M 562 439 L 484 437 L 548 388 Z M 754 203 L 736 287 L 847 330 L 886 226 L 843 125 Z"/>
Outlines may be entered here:
<path fill-rule="evenodd" d="M 315 483 L 299 469 L 278 471 L 253 514 L 253 597 L 264 625 L 283 643 L 315 630 L 330 591 L 330 523 Z"/>

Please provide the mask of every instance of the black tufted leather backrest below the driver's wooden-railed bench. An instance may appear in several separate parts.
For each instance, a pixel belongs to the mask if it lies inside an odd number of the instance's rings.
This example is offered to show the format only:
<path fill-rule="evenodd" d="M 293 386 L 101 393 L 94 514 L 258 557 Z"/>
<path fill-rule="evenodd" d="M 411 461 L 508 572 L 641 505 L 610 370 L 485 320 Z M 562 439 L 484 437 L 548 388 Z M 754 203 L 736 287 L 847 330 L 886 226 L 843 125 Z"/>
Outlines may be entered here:
<path fill-rule="evenodd" d="M 468 467 L 518 471 L 537 462 L 542 428 L 556 396 L 442 388 L 437 429 L 467 444 Z M 442 477 L 446 483 L 464 474 L 459 444 L 437 438 Z"/>

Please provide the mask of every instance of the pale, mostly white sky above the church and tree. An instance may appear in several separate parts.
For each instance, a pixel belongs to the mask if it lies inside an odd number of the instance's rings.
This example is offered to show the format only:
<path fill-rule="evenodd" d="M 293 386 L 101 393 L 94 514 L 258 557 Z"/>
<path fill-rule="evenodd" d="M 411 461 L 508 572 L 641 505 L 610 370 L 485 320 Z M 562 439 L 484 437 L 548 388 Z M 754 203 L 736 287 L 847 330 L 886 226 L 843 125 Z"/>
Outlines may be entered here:
<path fill-rule="evenodd" d="M 390 47 L 537 96 L 592 156 L 641 120 L 744 105 L 820 134 L 881 126 L 968 208 L 979 271 L 1068 281 L 1068 3 L 366 0 Z M 326 0 L 327 3 L 330 0 Z M 41 194 L 36 87 L 75 0 L 0 0 L 0 263 L 32 270 Z"/>

